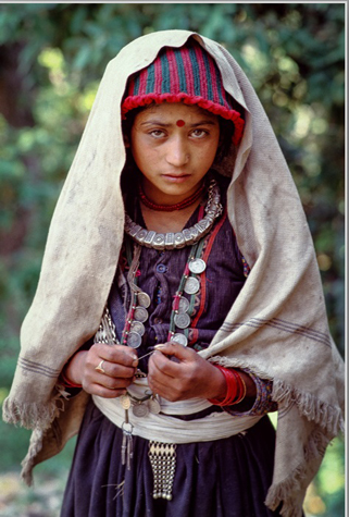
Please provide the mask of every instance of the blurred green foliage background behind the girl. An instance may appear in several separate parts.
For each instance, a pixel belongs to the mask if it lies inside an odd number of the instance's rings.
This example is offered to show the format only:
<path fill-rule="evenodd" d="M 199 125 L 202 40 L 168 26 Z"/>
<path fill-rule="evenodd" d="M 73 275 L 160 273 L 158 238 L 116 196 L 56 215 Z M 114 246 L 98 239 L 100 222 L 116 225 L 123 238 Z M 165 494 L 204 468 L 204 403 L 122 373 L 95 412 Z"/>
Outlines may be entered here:
<path fill-rule="evenodd" d="M 103 70 L 132 39 L 161 29 L 222 42 L 250 77 L 298 186 L 344 354 L 344 3 L 0 3 L 1 399 L 50 217 Z M 4 470 L 17 466 L 28 439 L 9 429 L 1 423 Z M 49 461 L 43 475 L 66 470 L 70 456 Z M 344 515 L 342 456 L 336 440 L 309 491 L 308 516 Z"/>

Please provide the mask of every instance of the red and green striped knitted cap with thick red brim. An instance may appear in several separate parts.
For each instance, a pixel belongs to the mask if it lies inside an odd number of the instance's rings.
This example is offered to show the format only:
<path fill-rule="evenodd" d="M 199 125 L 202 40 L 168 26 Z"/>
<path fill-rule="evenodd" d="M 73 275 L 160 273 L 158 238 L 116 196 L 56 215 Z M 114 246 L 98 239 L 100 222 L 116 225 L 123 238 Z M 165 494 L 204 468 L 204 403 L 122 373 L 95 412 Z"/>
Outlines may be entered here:
<path fill-rule="evenodd" d="M 198 104 L 234 123 L 233 143 L 238 144 L 244 120 L 236 102 L 224 90 L 221 73 L 213 58 L 194 39 L 180 48 L 164 47 L 155 60 L 134 74 L 127 83 L 122 115 L 151 102 Z"/>

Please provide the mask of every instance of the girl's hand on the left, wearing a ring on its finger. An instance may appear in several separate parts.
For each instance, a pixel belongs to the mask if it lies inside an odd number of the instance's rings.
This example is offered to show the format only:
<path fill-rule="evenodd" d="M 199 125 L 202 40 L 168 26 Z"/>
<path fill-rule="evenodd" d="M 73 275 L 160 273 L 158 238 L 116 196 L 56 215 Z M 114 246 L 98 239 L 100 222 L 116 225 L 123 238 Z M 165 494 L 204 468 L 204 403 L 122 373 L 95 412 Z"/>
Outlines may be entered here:
<path fill-rule="evenodd" d="M 77 352 L 65 367 L 64 374 L 91 395 L 114 398 L 126 393 L 126 387 L 135 379 L 137 365 L 133 348 L 96 343 L 89 350 Z M 98 366 L 103 371 L 96 369 Z"/>

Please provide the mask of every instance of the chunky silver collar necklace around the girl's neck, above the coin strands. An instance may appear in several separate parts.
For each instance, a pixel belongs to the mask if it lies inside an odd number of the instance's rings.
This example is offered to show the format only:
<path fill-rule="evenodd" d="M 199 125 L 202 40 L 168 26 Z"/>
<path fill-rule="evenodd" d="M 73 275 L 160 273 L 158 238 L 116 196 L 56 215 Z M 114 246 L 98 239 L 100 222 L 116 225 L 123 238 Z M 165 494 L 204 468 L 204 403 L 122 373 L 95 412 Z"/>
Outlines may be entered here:
<path fill-rule="evenodd" d="M 217 182 L 211 180 L 208 188 L 208 202 L 204 207 L 205 216 L 194 224 L 194 226 L 184 229 L 177 233 L 157 233 L 153 230 L 146 230 L 139 224 L 136 224 L 126 213 L 125 232 L 136 241 L 136 243 L 147 248 L 154 248 L 159 251 L 163 249 L 184 248 L 185 246 L 197 243 L 210 232 L 214 220 L 219 218 L 223 211 L 220 200 L 221 194 Z"/>

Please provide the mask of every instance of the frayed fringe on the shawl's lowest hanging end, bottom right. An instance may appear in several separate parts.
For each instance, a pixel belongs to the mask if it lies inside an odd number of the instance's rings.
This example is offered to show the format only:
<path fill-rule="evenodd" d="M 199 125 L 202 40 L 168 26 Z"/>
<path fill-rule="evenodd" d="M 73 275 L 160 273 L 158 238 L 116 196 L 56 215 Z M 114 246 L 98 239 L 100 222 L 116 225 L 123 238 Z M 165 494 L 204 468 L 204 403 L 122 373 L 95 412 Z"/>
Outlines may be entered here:
<path fill-rule="evenodd" d="M 307 465 L 313 459 L 320 459 L 324 456 L 329 440 L 319 430 L 314 431 L 304 447 L 304 460 L 294 469 L 290 476 L 281 483 L 273 484 L 266 495 L 265 505 L 275 510 L 283 503 L 279 510 L 283 517 L 301 517 L 301 505 L 295 501 L 295 493 L 301 492 L 302 480 L 309 477 Z M 308 483 L 307 483 L 308 485 Z"/>

